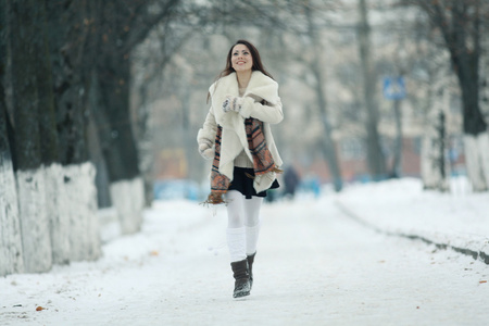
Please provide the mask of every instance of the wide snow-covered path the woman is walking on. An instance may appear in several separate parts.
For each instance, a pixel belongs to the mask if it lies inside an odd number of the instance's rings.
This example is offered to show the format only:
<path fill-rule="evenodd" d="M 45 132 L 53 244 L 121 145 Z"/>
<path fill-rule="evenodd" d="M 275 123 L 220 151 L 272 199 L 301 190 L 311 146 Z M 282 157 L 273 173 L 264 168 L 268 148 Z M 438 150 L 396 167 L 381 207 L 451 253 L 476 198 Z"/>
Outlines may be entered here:
<path fill-rule="evenodd" d="M 224 209 L 166 202 L 96 263 L 0 279 L 0 325 L 487 325 L 481 262 L 376 234 L 331 198 L 262 218 L 250 297 L 231 298 Z"/>

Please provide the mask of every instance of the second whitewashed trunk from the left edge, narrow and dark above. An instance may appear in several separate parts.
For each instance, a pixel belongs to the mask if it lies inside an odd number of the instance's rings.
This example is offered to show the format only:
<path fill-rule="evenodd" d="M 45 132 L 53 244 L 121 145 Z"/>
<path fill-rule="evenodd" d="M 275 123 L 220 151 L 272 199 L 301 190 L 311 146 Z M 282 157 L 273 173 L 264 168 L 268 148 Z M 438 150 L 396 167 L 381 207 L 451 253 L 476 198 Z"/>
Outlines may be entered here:
<path fill-rule="evenodd" d="M 24 266 L 28 273 L 51 268 L 51 240 L 41 166 L 36 53 L 40 51 L 40 9 L 34 0 L 12 2 L 12 85 L 15 114 L 17 196 Z M 40 80 L 39 80 L 40 82 Z"/>

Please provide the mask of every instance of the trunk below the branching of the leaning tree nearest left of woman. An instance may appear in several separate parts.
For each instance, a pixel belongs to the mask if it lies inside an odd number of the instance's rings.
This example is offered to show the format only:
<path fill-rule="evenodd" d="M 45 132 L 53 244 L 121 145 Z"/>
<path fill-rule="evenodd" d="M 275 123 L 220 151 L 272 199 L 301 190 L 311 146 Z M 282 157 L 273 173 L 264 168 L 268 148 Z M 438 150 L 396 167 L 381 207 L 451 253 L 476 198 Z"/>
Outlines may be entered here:
<path fill-rule="evenodd" d="M 145 206 L 143 181 L 138 166 L 138 153 L 129 112 L 128 58 L 108 52 L 98 66 L 100 102 L 104 122 L 98 126 L 105 159 L 112 203 L 123 234 L 139 231 Z"/>

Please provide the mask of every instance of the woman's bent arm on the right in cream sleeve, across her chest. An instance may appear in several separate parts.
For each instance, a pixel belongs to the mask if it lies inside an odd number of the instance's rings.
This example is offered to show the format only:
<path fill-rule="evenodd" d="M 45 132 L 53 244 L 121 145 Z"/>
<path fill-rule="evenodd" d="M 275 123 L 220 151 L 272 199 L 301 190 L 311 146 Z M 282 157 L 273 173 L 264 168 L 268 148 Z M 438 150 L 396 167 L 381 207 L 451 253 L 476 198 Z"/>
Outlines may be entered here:
<path fill-rule="evenodd" d="M 280 99 L 275 104 L 262 102 L 256 102 L 252 97 L 244 97 L 239 114 L 244 118 L 254 117 L 268 124 L 278 124 L 284 120 Z"/>

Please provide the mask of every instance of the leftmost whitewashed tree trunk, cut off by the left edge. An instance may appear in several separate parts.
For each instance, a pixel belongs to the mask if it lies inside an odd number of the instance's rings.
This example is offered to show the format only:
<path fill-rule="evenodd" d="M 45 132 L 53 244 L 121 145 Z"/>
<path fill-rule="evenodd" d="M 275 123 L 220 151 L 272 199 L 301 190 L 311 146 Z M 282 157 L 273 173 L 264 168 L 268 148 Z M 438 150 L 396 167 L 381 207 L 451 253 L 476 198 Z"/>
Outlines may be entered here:
<path fill-rule="evenodd" d="M 0 0 L 0 276 L 24 272 L 17 191 L 9 141 L 10 122 L 3 87 L 7 71 L 7 1 Z"/>

